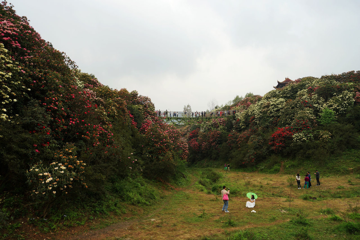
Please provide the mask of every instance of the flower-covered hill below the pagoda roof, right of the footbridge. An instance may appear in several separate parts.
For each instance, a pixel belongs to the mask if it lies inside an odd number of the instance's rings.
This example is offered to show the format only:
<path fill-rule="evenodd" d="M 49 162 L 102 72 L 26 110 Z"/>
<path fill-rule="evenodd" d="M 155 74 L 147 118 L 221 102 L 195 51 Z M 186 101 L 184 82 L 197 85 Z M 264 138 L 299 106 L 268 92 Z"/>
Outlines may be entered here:
<path fill-rule="evenodd" d="M 321 166 L 331 156 L 360 148 L 359 104 L 360 71 L 300 78 L 217 109 L 236 110 L 234 117 L 192 126 L 189 160 L 220 159 L 275 172 L 284 160 L 288 167 L 301 167 L 302 160 Z"/>

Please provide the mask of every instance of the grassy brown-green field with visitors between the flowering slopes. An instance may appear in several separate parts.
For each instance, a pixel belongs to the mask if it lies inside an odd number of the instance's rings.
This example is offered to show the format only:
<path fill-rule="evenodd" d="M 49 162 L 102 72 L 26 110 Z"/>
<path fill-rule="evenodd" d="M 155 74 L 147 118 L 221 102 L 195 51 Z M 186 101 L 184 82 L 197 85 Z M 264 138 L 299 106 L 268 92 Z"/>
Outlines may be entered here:
<path fill-rule="evenodd" d="M 360 239 L 357 175 L 321 177 L 320 187 L 313 181 L 309 189 L 297 189 L 296 182 L 290 187 L 290 176 L 282 174 L 190 168 L 190 176 L 188 187 L 160 187 L 161 196 L 151 207 L 130 205 L 120 219 L 109 217 L 44 238 Z M 229 213 L 221 211 L 222 185 L 230 187 Z M 245 207 L 248 191 L 258 195 L 256 213 Z"/>

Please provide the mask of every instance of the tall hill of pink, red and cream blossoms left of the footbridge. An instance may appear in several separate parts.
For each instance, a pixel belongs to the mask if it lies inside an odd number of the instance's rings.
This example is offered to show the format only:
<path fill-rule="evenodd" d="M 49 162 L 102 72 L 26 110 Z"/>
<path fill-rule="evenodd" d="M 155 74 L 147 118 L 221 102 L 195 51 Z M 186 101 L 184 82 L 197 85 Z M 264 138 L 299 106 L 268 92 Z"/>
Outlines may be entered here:
<path fill-rule="evenodd" d="M 26 17 L 0 5 L 0 188 L 44 205 L 126 177 L 176 178 L 186 139 L 148 97 L 82 73 Z M 166 170 L 164 170 L 166 169 Z"/>

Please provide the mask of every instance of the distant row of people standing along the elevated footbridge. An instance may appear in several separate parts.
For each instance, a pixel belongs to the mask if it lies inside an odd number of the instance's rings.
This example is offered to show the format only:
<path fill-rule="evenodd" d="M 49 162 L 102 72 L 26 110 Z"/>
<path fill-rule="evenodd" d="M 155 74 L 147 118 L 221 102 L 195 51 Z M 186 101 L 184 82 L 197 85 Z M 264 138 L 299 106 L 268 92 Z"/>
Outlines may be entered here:
<path fill-rule="evenodd" d="M 236 110 L 225 110 L 225 111 L 213 111 L 213 112 L 206 112 L 206 111 L 201 111 L 201 112 L 171 112 L 168 110 L 165 111 L 161 111 L 161 110 L 156 110 L 156 115 L 158 117 L 174 117 L 174 118 L 178 118 L 178 117 L 193 117 L 193 118 L 206 118 L 206 117 L 226 117 L 226 116 L 235 116 Z"/>

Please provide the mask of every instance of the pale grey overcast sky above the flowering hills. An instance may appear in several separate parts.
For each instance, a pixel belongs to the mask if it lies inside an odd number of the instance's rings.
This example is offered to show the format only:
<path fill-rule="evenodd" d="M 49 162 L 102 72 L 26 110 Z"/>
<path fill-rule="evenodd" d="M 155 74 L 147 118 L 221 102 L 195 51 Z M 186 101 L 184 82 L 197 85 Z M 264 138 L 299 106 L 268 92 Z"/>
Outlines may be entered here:
<path fill-rule="evenodd" d="M 41 37 L 156 109 L 360 70 L 360 1 L 8 0 Z"/>

